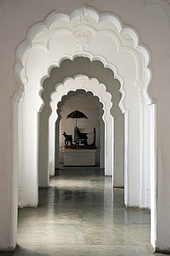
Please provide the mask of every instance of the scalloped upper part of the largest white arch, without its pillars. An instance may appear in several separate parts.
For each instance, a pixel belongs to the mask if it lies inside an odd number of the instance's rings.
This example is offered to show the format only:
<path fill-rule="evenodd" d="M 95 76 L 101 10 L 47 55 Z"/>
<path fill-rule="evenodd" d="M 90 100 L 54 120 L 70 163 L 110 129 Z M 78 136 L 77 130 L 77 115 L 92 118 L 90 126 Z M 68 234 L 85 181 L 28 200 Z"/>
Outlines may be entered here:
<path fill-rule="evenodd" d="M 17 48 L 17 63 L 14 66 L 14 74 L 17 78 L 15 97 L 21 97 L 23 85 L 29 86 L 33 83 L 29 73 L 32 66 L 29 66 L 29 63 L 34 62 L 37 74 L 39 73 L 39 77 L 34 79 L 39 91 L 35 108 L 41 111 L 43 105 L 41 84 L 45 77 L 50 76 L 51 68 L 60 66 L 65 59 L 73 60 L 77 56 L 83 56 L 91 61 L 99 60 L 114 72 L 115 78 L 121 84 L 120 92 L 123 97 L 120 101 L 120 109 L 123 113 L 128 109 L 124 101 L 128 91 L 126 77 L 131 72 L 129 66 L 133 66 L 131 69 L 134 70 L 131 83 L 138 86 L 139 94 L 142 94 L 147 104 L 150 104 L 151 100 L 147 93 L 151 78 L 147 67 L 149 53 L 146 48 L 139 45 L 136 32 L 122 24 L 123 22 L 120 23 L 114 15 L 99 15 L 98 12 L 87 8 L 75 10 L 70 15 L 52 12 L 45 21 L 34 24 L 28 31 L 27 39 Z M 94 45 L 98 45 L 98 49 L 94 48 Z M 57 51 L 58 48 L 60 53 Z M 129 62 L 131 62 L 130 65 Z M 125 69 L 127 69 L 126 72 Z M 141 69 L 145 75 L 140 72 Z"/>

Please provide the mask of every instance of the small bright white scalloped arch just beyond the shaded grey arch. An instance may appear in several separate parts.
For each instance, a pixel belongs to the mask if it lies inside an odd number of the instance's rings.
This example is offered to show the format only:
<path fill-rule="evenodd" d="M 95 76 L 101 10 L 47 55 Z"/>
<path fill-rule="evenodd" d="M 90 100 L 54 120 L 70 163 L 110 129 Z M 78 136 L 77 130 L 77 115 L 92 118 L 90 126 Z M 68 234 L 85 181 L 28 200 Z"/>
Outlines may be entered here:
<path fill-rule="evenodd" d="M 58 118 L 56 108 L 59 102 L 61 102 L 64 95 L 67 95 L 70 91 L 83 90 L 91 92 L 92 95 L 96 96 L 103 104 L 103 121 L 105 122 L 105 133 L 109 136 L 105 136 L 105 174 L 113 175 L 114 171 L 114 147 L 113 143 L 113 131 L 114 121 L 111 116 L 110 109 L 111 94 L 106 91 L 105 84 L 99 83 L 96 78 L 90 78 L 86 75 L 76 75 L 76 77 L 66 77 L 63 83 L 56 84 L 56 90 L 51 95 L 51 108 L 52 114 L 49 118 L 49 159 L 50 159 L 50 170 L 52 173 L 54 170 L 54 154 L 55 154 L 55 123 Z M 101 146 L 102 147 L 102 146 Z M 53 163 L 52 163 L 53 162 Z M 52 168 L 52 169 L 51 169 Z"/>

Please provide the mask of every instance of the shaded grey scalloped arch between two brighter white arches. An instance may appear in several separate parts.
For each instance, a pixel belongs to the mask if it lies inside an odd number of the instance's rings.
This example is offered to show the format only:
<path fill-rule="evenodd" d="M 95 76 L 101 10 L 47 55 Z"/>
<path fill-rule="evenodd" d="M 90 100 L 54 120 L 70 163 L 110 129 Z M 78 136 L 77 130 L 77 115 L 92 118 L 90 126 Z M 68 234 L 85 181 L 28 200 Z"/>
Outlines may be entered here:
<path fill-rule="evenodd" d="M 77 68 L 76 68 L 77 66 Z M 121 176 L 123 177 L 123 163 L 122 161 L 120 161 L 120 156 L 121 159 L 124 159 L 124 149 L 123 149 L 123 141 L 124 141 L 124 131 L 123 128 L 124 127 L 124 118 L 123 115 L 121 115 L 120 113 L 120 108 L 118 107 L 118 102 L 120 102 L 120 98 L 121 98 L 121 93 L 119 93 L 119 89 L 120 89 L 120 82 L 118 80 L 116 80 L 114 78 L 114 73 L 109 69 L 109 68 L 105 68 L 103 66 L 103 64 L 101 62 L 98 61 L 94 61 L 94 62 L 90 62 L 90 60 L 86 57 L 76 57 L 74 60 L 64 60 L 61 63 L 60 67 L 56 67 L 56 68 L 52 68 L 51 72 L 50 72 L 50 77 L 48 77 L 46 80 L 44 80 L 43 83 L 43 88 L 44 91 L 42 93 L 42 98 L 45 102 L 45 107 L 42 108 L 41 113 L 39 114 L 39 122 L 40 122 L 40 160 L 39 160 L 39 167 L 41 172 L 47 172 L 47 170 L 50 170 L 50 174 L 54 173 L 54 155 L 50 154 L 50 165 L 45 165 L 45 158 L 47 158 L 47 153 L 45 153 L 45 138 L 47 137 L 47 120 L 49 118 L 49 116 L 51 115 L 51 108 L 50 108 L 50 104 L 49 104 L 49 99 L 50 99 L 50 95 L 53 93 L 54 88 L 55 88 L 55 83 L 58 82 L 56 84 L 56 87 L 59 85 L 59 83 L 62 84 L 61 81 L 65 81 L 65 77 L 69 76 L 69 77 L 76 77 L 76 74 L 80 74 L 83 73 L 84 75 L 87 75 L 87 77 L 97 77 L 98 80 L 103 81 L 103 84 L 105 84 L 105 88 L 107 88 L 107 92 L 110 93 L 111 95 L 111 102 L 114 103 L 113 106 L 111 107 L 111 116 L 116 116 L 116 122 L 114 122 L 114 124 L 116 125 L 116 129 L 114 129 L 114 132 L 116 132 L 116 130 L 118 131 L 118 133 L 116 133 L 116 137 L 115 137 L 115 163 L 116 165 L 119 165 L 118 168 L 116 168 L 115 166 L 115 170 L 118 169 L 115 177 L 118 176 L 118 174 L 121 174 Z M 107 86 L 106 86 L 107 85 Z M 61 91 L 61 95 L 63 92 Z M 122 117 L 120 117 L 122 116 Z M 118 127 L 118 123 L 119 123 L 119 128 Z M 121 123 L 121 125 L 120 125 Z M 41 124 L 43 127 L 43 130 L 41 128 Z M 44 129 L 44 127 L 46 127 L 46 129 Z M 103 128 L 104 130 L 104 128 Z M 113 130 L 111 131 L 111 134 L 113 133 Z M 104 133 L 103 133 L 104 134 Z M 108 134 L 109 135 L 109 134 Z M 102 140 L 104 140 L 104 137 L 102 138 Z M 43 144 L 43 147 L 41 147 L 41 145 Z M 50 146 L 48 147 L 50 148 Z M 55 147 L 56 149 L 56 147 Z M 48 150 L 48 149 L 47 149 Z M 53 149 L 54 150 L 54 149 Z M 103 150 L 104 152 L 104 150 Z M 119 152 L 119 153 L 118 153 Z M 100 158 L 101 159 L 101 158 Z M 103 157 L 102 157 L 103 159 Z M 57 161 L 56 161 L 57 162 Z M 121 162 L 121 163 L 120 163 Z M 103 163 L 105 163 L 105 160 L 103 160 Z M 102 168 L 105 167 L 104 164 L 101 164 L 100 166 Z M 59 163 L 56 164 L 56 168 L 59 168 Z M 109 170 L 109 168 L 108 168 Z M 107 170 L 107 172 L 108 172 Z M 109 175 L 111 175 L 111 170 Z M 119 175 L 120 176 L 120 175 Z M 117 186 L 123 186 L 123 178 L 122 179 L 114 179 L 114 182 L 116 183 Z M 46 181 L 42 181 L 40 182 L 41 186 L 46 186 L 48 185 L 48 177 Z"/>

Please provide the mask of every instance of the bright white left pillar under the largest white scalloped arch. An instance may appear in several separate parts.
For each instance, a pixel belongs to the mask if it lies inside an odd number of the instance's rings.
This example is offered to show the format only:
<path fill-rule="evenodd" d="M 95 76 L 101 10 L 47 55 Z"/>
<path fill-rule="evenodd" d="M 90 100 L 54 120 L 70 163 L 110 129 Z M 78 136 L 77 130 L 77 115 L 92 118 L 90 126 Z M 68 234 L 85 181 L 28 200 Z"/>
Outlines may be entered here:
<path fill-rule="evenodd" d="M 23 104 L 22 206 L 36 206 L 39 201 L 39 113 L 35 109 L 32 109 L 30 102 L 31 101 L 28 99 L 28 101 Z"/>

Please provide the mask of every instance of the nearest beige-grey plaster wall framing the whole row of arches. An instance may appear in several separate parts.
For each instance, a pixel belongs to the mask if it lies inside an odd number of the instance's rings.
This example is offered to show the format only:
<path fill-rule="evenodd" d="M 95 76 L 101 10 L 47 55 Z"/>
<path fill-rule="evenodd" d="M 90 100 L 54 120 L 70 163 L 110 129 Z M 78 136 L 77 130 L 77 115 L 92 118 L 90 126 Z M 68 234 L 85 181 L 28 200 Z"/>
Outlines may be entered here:
<path fill-rule="evenodd" d="M 17 234 L 14 232 L 17 218 L 14 217 L 12 205 L 14 203 L 13 191 L 17 183 L 14 183 L 16 173 L 12 169 L 12 149 L 14 138 L 12 131 L 12 103 L 11 97 L 17 88 L 13 75 L 15 62 L 14 53 L 32 24 L 43 21 L 49 12 L 63 12 L 70 14 L 73 10 L 81 8 L 84 1 L 63 0 L 30 0 L 30 1 L 1 1 L 0 27 L 1 33 L 1 148 L 0 148 L 0 202 L 3 208 L 0 212 L 0 248 L 12 249 L 16 245 Z M 167 118 L 167 110 L 170 109 L 169 101 L 169 1 L 157 0 L 119 0 L 98 1 L 89 0 L 87 5 L 100 12 L 113 12 L 124 24 L 135 28 L 140 35 L 141 44 L 145 44 L 151 53 L 150 68 L 153 73 L 149 92 L 156 102 L 156 152 L 157 152 L 157 250 L 170 250 L 169 216 L 170 216 L 170 121 Z M 16 118 L 16 116 L 13 116 Z M 12 185 L 13 184 L 13 185 Z M 164 199 L 164 200 L 162 200 Z M 17 208 L 17 205 L 14 205 Z"/>

